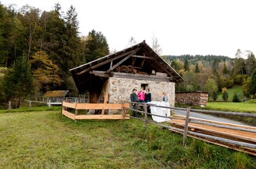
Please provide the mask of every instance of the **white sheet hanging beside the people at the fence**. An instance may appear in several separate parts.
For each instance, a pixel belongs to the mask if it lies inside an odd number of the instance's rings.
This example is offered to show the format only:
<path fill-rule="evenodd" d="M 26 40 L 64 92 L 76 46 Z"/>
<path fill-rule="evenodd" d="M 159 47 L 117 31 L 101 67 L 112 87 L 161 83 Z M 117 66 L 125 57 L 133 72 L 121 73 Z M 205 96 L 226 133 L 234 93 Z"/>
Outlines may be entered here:
<path fill-rule="evenodd" d="M 149 103 L 157 105 L 157 106 L 170 106 L 168 102 L 152 101 Z M 156 114 L 156 115 L 160 115 L 160 116 L 164 116 L 164 117 L 169 117 L 171 115 L 170 109 L 161 108 L 161 107 L 157 107 L 157 106 L 150 106 L 150 110 L 151 110 L 152 114 Z M 164 117 L 156 117 L 156 116 L 152 115 L 153 120 L 156 122 L 164 122 L 164 121 L 170 120 L 169 118 L 164 118 Z"/>

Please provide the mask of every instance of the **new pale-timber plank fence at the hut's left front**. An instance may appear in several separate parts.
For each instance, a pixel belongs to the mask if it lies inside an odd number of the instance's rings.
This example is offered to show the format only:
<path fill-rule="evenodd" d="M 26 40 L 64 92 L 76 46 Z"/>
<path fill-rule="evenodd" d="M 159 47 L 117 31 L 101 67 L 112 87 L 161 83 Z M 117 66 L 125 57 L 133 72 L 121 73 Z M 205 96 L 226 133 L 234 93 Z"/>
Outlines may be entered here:
<path fill-rule="evenodd" d="M 62 102 L 61 113 L 71 118 L 74 121 L 84 119 L 130 119 L 126 114 L 126 107 L 129 107 L 129 103 L 67 103 Z M 71 113 L 70 110 L 74 110 Z M 78 114 L 78 110 L 102 110 L 101 114 Z M 105 114 L 105 110 L 121 110 L 119 114 Z"/>

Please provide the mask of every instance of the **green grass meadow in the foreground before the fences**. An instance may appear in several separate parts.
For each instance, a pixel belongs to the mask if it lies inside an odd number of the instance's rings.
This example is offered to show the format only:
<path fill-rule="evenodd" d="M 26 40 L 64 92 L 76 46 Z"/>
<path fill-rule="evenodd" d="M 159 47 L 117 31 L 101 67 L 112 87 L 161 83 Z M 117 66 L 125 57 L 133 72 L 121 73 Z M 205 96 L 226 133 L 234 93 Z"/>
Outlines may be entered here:
<path fill-rule="evenodd" d="M 0 168 L 254 168 L 255 157 L 139 120 L 79 120 L 60 110 L 0 113 Z"/>

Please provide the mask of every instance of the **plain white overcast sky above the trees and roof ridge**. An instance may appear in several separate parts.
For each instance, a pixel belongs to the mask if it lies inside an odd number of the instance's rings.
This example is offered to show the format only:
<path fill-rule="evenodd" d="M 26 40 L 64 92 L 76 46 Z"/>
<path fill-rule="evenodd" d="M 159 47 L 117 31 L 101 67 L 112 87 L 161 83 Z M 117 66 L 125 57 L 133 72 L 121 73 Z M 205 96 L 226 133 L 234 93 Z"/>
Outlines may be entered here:
<path fill-rule="evenodd" d="M 64 12 L 78 12 L 79 32 L 105 35 L 110 51 L 128 47 L 133 37 L 161 55 L 216 55 L 234 58 L 237 49 L 256 53 L 254 0 L 0 0 L 50 11 L 59 2 Z"/>

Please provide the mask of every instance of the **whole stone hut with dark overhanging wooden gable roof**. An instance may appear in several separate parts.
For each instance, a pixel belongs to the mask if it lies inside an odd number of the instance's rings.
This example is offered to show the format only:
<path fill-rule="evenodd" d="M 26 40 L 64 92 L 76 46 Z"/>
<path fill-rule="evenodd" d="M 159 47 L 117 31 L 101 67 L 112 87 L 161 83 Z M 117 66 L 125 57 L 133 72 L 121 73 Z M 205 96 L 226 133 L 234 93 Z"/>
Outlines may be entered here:
<path fill-rule="evenodd" d="M 175 83 L 183 80 L 145 41 L 70 71 L 79 93 L 89 93 L 89 103 L 99 103 L 106 93 L 108 103 L 130 102 L 133 88 L 142 87 L 150 89 L 154 101 L 166 91 L 175 106 Z"/>

